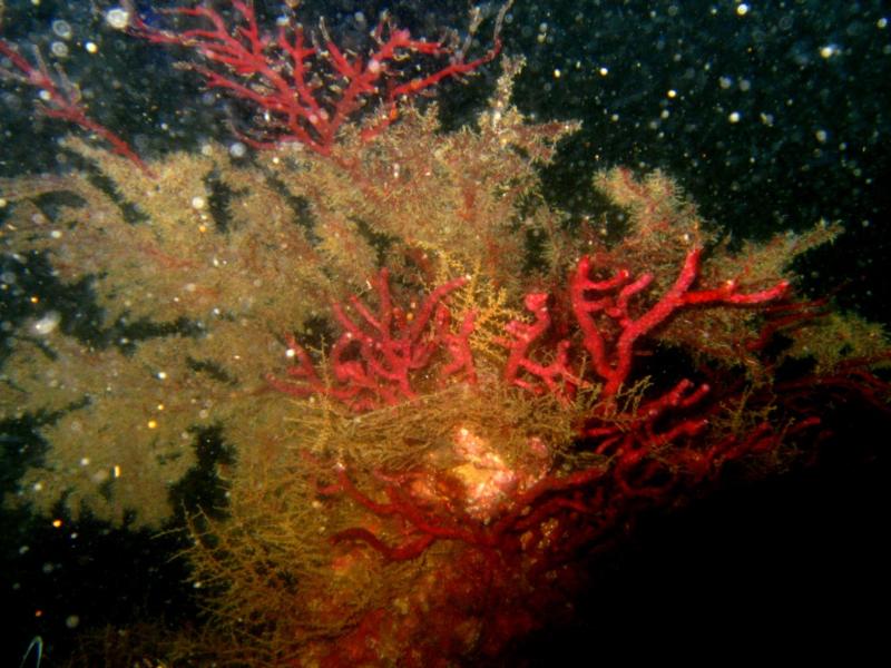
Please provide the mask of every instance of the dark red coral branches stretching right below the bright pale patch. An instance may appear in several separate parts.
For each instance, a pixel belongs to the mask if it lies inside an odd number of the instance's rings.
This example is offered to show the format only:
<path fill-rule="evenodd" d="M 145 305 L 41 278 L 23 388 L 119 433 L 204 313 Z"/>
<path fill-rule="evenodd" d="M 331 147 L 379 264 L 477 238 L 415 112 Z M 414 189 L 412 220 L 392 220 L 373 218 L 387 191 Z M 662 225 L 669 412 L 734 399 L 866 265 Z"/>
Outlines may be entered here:
<path fill-rule="evenodd" d="M 683 409 L 701 397 L 701 392 L 687 392 L 689 383 L 682 382 L 662 399 L 650 404 L 659 414 L 669 409 Z M 654 418 L 655 421 L 655 418 Z M 652 425 L 652 422 L 649 423 Z M 386 501 L 375 501 L 359 490 L 345 466 L 335 466 L 336 482 L 320 487 L 319 493 L 343 493 L 376 518 L 398 521 L 394 533 L 403 538 L 390 544 L 378 533 L 355 527 L 332 537 L 332 542 L 362 542 L 391 561 L 414 559 L 438 541 L 460 541 L 467 546 L 501 554 L 510 560 L 526 553 L 530 564 L 544 572 L 571 559 L 575 550 L 603 540 L 624 518 L 631 521 L 645 503 L 659 502 L 678 488 L 695 485 L 713 477 L 724 461 L 737 460 L 747 453 L 764 453 L 776 449 L 784 439 L 820 425 L 817 418 L 805 418 L 775 430 L 762 423 L 740 436 L 731 435 L 702 448 L 674 446 L 681 436 L 701 433 L 705 421 L 689 420 L 670 433 L 654 434 L 652 440 L 623 442 L 630 445 L 600 464 L 589 465 L 566 475 L 550 473 L 529 489 L 518 492 L 503 508 L 486 521 L 463 512 L 460 485 L 435 484 L 435 472 L 378 475 Z M 639 435 L 639 433 L 638 433 Z M 657 456 L 658 455 L 658 456 Z M 411 484 L 424 481 L 421 489 L 435 488 L 437 499 L 419 495 Z M 441 481 L 442 482 L 442 481 Z"/>

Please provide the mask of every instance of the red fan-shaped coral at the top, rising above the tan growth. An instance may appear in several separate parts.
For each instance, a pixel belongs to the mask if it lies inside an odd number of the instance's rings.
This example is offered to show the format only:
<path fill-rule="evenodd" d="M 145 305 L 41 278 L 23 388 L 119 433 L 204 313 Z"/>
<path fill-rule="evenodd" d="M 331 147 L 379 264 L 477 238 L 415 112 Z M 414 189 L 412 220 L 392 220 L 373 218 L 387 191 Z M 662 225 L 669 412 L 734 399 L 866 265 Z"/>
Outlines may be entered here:
<path fill-rule="evenodd" d="M 236 24 L 216 10 L 178 7 L 166 13 L 196 19 L 198 26 L 182 31 L 147 24 L 133 12 L 130 31 L 150 42 L 196 51 L 208 66 L 187 67 L 204 77 L 208 88 L 227 90 L 257 112 L 257 127 L 242 132 L 251 145 L 272 148 L 296 141 L 321 155 L 330 155 L 337 131 L 369 100 L 381 109 L 361 131 L 363 140 L 376 137 L 399 118 L 401 101 L 431 89 L 449 77 L 467 75 L 500 51 L 496 27 L 492 48 L 474 60 L 442 41 L 412 38 L 383 17 L 372 31 L 374 48 L 366 57 L 344 53 L 322 26 L 322 39 L 307 36 L 293 21 L 280 22 L 274 35 L 264 33 L 252 2 L 232 1 Z M 309 43 L 307 43 L 309 42 Z M 403 79 L 399 65 L 411 57 L 427 57 L 433 71 Z"/>

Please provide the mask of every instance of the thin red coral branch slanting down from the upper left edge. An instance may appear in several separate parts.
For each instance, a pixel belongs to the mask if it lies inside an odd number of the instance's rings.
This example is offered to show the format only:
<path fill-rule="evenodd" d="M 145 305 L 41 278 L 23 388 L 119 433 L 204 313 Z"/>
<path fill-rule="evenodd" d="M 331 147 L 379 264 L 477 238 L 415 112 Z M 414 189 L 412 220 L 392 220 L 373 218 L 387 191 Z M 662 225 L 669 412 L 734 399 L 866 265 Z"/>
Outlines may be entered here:
<path fill-rule="evenodd" d="M 12 79 L 31 88 L 37 88 L 40 91 L 38 95 L 38 109 L 45 116 L 72 122 L 99 136 L 111 145 L 111 149 L 116 154 L 129 159 L 145 174 L 153 176 L 151 170 L 130 148 L 127 141 L 87 116 L 87 110 L 80 98 L 80 91 L 61 70 L 58 71 L 57 78 L 53 78 L 37 48 L 35 48 L 36 65 L 33 65 L 21 56 L 12 45 L 0 39 L 0 56 L 6 57 L 13 68 L 0 68 L 0 78 Z"/>

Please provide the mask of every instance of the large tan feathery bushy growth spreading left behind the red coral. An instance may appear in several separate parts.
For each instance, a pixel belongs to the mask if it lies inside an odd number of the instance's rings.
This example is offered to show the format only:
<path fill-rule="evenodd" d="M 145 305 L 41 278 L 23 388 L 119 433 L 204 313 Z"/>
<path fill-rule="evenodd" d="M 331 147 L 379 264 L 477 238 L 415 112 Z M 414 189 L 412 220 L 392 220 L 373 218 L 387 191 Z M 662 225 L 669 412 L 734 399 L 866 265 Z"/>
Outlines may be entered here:
<path fill-rule="evenodd" d="M 380 266 L 417 294 L 446 272 L 440 256 L 450 272 L 474 272 L 457 298 L 473 302 L 474 336 L 492 353 L 484 333 L 518 313 L 507 294 L 516 302 L 522 288 L 503 258 L 521 257 L 541 216 L 533 164 L 571 130 L 523 125 L 508 86 L 480 130 L 442 134 L 434 108 L 410 110 L 379 141 L 344 137 L 335 159 L 292 145 L 237 160 L 208 144 L 153 164 L 153 178 L 69 140 L 81 170 L 4 181 L 6 248 L 22 263 L 45 255 L 101 308 L 90 323 L 100 341 L 86 343 L 69 323 L 40 331 L 55 311 L 35 295 L 31 327 L 16 337 L 4 415 L 53 414 L 19 501 L 157 524 L 170 511 L 165 489 L 194 463 L 189 429 L 224 424 L 252 448 L 275 440 L 294 410 L 264 381 L 282 365 L 282 336 L 319 330 L 331 302 Z M 529 200 L 539 213 L 520 219 Z"/>

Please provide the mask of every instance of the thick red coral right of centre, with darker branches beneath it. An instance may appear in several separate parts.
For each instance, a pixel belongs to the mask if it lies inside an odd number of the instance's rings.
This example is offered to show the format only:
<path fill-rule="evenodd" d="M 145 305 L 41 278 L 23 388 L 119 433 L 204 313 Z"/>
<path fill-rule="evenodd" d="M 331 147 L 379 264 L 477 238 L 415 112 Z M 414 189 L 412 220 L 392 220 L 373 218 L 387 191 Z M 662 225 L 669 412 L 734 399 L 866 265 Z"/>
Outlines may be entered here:
<path fill-rule="evenodd" d="M 606 279 L 591 278 L 591 259 L 582 257 L 569 278 L 569 301 L 575 321 L 581 333 L 581 346 L 588 354 L 590 381 L 582 377 L 581 362 L 570 363 L 570 338 L 556 343 L 550 362 L 541 363 L 532 355 L 545 341 L 551 326 L 548 297 L 532 293 L 526 307 L 532 313 L 531 323 L 512 321 L 507 325 L 510 336 L 505 379 L 519 387 L 536 393 L 551 393 L 564 400 L 575 391 L 595 381 L 603 383 L 598 410 L 588 418 L 581 434 L 591 450 L 615 462 L 614 479 L 623 497 L 658 497 L 674 483 L 674 469 L 684 458 L 698 462 L 697 470 L 705 474 L 717 456 L 697 451 L 694 439 L 708 424 L 705 410 L 694 411 L 711 392 L 707 384 L 694 385 L 681 380 L 660 396 L 637 406 L 619 409 L 617 395 L 627 382 L 638 343 L 678 311 L 703 306 L 752 306 L 781 299 L 789 289 L 785 281 L 767 289 L 741 293 L 735 282 L 711 289 L 693 289 L 699 276 L 702 248 L 687 253 L 674 284 L 655 303 L 640 308 L 636 305 L 653 283 L 653 275 L 634 278 L 627 269 L 619 269 Z M 581 355 L 576 355 L 581 357 Z M 698 414 L 695 414 L 698 413 Z M 672 458 L 679 453 L 677 461 Z M 657 461 L 656 458 L 662 460 Z M 686 461 L 686 460 L 684 460 Z"/>

